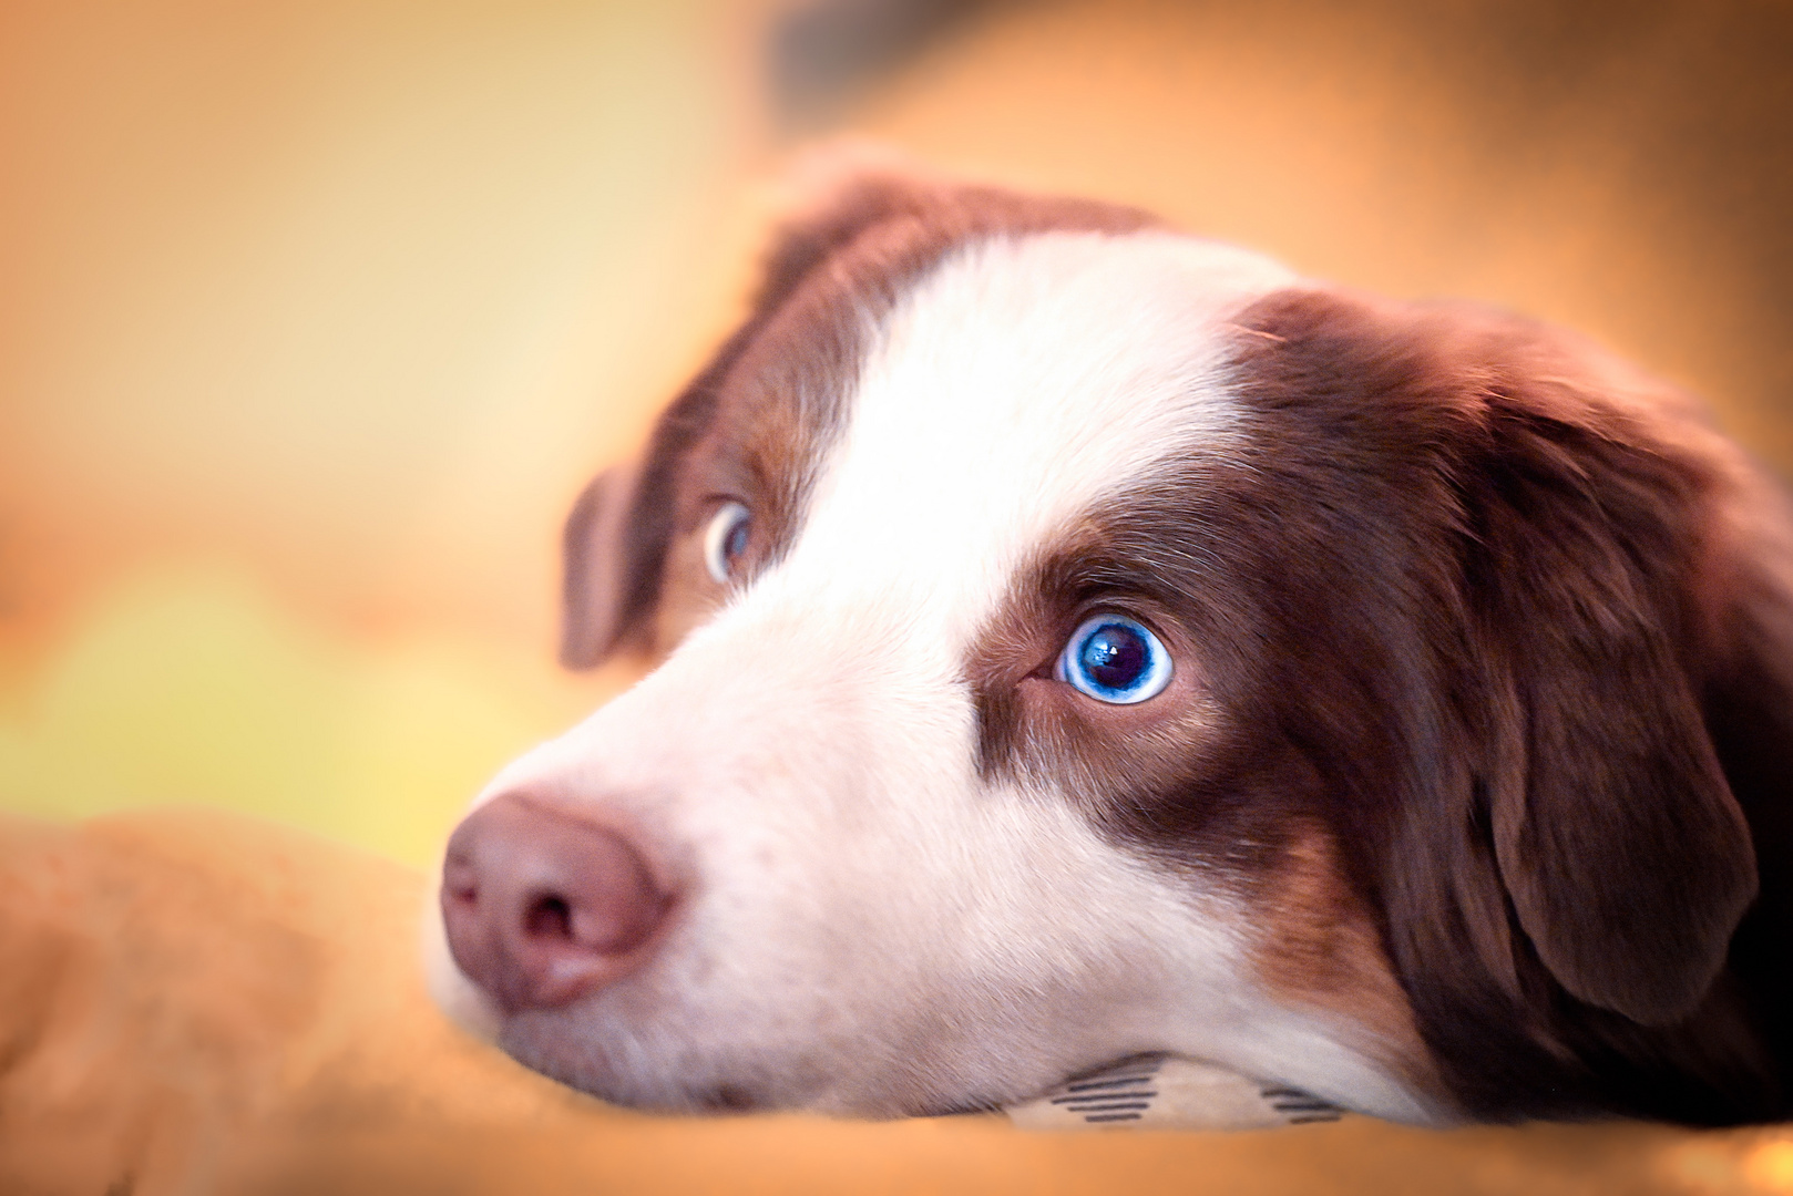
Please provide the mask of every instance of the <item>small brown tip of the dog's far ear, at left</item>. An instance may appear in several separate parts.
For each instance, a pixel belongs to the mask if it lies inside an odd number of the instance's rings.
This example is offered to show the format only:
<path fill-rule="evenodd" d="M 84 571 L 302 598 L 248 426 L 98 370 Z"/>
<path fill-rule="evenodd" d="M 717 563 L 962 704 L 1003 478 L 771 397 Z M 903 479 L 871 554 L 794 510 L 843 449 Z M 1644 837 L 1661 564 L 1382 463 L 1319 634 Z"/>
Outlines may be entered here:
<path fill-rule="evenodd" d="M 645 545 L 629 543 L 640 463 L 599 473 L 561 531 L 561 647 L 568 669 L 592 669 L 638 640 L 651 595 L 638 594 Z"/>

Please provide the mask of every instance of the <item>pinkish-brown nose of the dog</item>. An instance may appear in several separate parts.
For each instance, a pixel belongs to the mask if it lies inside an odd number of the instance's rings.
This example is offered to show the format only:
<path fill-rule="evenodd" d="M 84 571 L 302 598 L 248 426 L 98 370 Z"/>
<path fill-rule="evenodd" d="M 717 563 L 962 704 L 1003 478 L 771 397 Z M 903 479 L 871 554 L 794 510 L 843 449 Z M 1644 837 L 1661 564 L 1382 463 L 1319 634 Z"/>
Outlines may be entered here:
<path fill-rule="evenodd" d="M 628 839 L 527 793 L 455 828 L 441 900 L 455 963 L 507 1013 L 626 975 L 671 906 Z"/>

